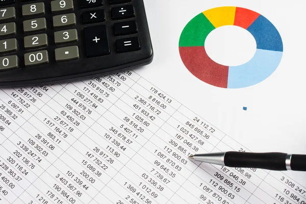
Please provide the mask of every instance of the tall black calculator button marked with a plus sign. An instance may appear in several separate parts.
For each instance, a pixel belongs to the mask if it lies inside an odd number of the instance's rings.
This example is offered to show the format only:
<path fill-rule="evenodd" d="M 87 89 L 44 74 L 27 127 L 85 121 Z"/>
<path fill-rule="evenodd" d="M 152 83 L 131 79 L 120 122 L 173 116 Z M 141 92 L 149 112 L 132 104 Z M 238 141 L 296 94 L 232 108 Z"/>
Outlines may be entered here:
<path fill-rule="evenodd" d="M 84 29 L 87 57 L 109 55 L 110 45 L 106 25 L 95 25 Z"/>

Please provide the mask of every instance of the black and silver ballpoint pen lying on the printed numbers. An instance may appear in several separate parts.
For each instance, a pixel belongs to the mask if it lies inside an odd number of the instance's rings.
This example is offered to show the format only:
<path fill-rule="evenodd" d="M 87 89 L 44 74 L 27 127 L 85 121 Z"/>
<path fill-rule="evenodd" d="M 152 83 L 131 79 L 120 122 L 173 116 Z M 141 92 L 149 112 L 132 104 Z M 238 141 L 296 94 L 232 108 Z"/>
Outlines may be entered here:
<path fill-rule="evenodd" d="M 228 167 L 306 171 L 306 155 L 290 155 L 281 152 L 251 153 L 227 151 L 191 155 L 189 158 L 195 161 Z"/>

